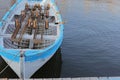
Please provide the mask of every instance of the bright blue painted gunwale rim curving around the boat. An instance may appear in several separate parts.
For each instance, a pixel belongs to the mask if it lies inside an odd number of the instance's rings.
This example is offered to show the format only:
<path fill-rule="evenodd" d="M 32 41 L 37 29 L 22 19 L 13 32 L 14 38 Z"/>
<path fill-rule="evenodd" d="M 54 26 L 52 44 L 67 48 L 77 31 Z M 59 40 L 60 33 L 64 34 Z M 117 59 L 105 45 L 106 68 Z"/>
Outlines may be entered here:
<path fill-rule="evenodd" d="M 17 2 L 10 8 L 10 10 L 8 11 L 9 12 L 9 14 L 10 14 L 10 11 L 12 11 L 16 6 L 17 6 L 17 4 L 18 3 L 20 3 L 22 0 L 17 0 Z M 47 0 L 44 0 L 45 2 L 47 1 Z M 55 11 L 56 12 L 59 12 L 59 9 L 58 9 L 58 7 L 55 5 L 55 1 L 54 0 L 50 0 L 51 1 L 51 3 L 52 3 L 52 6 L 55 8 Z M 8 12 L 5 14 L 5 16 L 3 17 L 3 19 L 2 20 L 4 20 L 4 19 L 7 19 L 8 18 L 8 16 L 9 16 L 9 14 L 8 14 Z M 6 18 L 5 18 L 6 17 Z M 58 20 L 59 20 L 59 22 L 62 22 L 62 18 L 61 18 L 61 15 L 60 14 L 57 14 L 57 17 L 59 18 Z M 0 22 L 0 26 L 2 26 L 2 22 Z M 63 29 L 64 29 L 64 25 L 63 24 L 60 24 L 59 25 L 59 28 L 60 28 L 60 32 L 59 32 L 59 37 L 55 40 L 55 42 L 52 44 L 52 45 L 50 45 L 49 47 L 47 47 L 47 48 L 45 48 L 45 49 L 43 49 L 43 50 L 38 50 L 38 49 L 25 49 L 26 51 L 25 51 L 25 56 L 26 57 L 33 57 L 33 56 L 36 56 L 36 55 L 40 55 L 41 56 L 41 58 L 45 58 L 46 56 L 48 56 L 48 55 L 46 55 L 45 54 L 45 52 L 48 52 L 48 51 L 50 51 L 52 48 L 52 50 L 54 50 L 54 51 L 52 51 L 51 52 L 51 54 L 53 54 L 54 52 L 56 52 L 56 50 L 60 47 L 60 45 L 61 45 L 61 43 L 62 43 L 62 39 L 63 39 Z M 56 47 L 56 45 L 58 46 L 58 47 Z M 56 48 L 55 48 L 56 47 Z M 1 47 L 0 47 L 1 48 Z M 23 50 L 23 49 L 5 49 L 5 48 L 2 48 L 2 50 L 8 50 L 7 52 L 13 52 L 13 50 L 14 51 L 17 51 L 18 53 L 20 53 L 20 50 Z M 6 52 L 6 54 L 7 54 L 7 52 Z M 5 52 L 4 52 L 5 53 Z M 39 53 L 42 53 L 42 54 L 39 54 Z M 49 53 L 49 52 L 48 52 Z M 50 54 L 50 53 L 49 53 Z M 16 61 L 16 62 L 19 62 L 19 56 L 20 55 L 17 55 L 17 58 L 14 58 L 13 59 L 13 57 L 14 56 L 16 56 L 16 53 L 11 53 L 11 54 L 9 54 L 10 56 L 12 56 L 12 57 L 10 57 L 9 55 L 4 55 L 3 53 L 1 53 L 1 55 L 3 55 L 3 56 L 5 56 L 5 57 L 7 57 L 8 59 L 10 59 L 10 60 L 14 60 L 14 61 Z M 39 58 L 40 58 L 40 56 L 39 56 Z M 38 58 L 38 59 L 39 59 Z M 26 61 L 34 61 L 34 60 L 36 60 L 36 59 L 32 59 L 32 60 L 30 60 L 30 59 L 28 59 L 28 60 L 26 60 Z"/>

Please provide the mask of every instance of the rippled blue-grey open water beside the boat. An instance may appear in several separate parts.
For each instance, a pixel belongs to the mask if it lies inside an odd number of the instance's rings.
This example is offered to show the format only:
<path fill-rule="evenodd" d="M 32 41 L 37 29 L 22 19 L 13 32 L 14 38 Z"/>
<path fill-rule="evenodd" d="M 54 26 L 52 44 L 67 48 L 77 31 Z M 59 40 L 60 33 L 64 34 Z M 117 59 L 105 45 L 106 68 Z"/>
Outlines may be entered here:
<path fill-rule="evenodd" d="M 57 77 L 120 76 L 120 0 L 56 0 L 56 3 L 66 22 L 62 68 L 56 67 Z M 7 2 L 0 0 L 0 16 L 4 14 L 3 4 Z"/>

